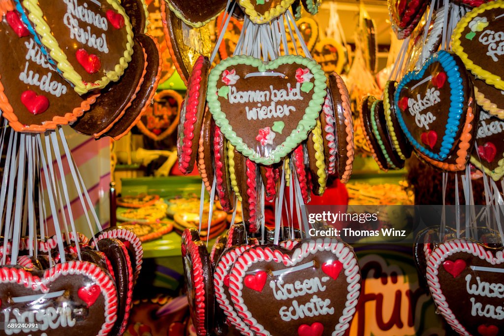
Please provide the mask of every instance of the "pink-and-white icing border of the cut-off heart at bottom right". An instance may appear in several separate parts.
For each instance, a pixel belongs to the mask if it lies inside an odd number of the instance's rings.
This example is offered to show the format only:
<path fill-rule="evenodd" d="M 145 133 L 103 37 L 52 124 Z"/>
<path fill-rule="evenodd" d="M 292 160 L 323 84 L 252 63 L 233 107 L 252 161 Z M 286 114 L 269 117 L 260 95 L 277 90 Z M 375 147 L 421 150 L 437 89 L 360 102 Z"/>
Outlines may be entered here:
<path fill-rule="evenodd" d="M 437 277 L 437 269 L 439 266 L 446 258 L 457 252 L 472 254 L 475 257 L 486 260 L 492 265 L 498 265 L 504 263 L 504 251 L 496 251 L 495 256 L 493 256 L 491 251 L 486 251 L 483 246 L 476 242 L 464 239 L 453 239 L 440 244 L 433 249 L 429 259 L 427 260 L 427 284 L 429 285 L 429 290 L 432 295 L 432 299 L 434 299 L 437 310 L 443 315 L 448 324 L 450 324 L 455 331 L 459 332 L 463 336 L 472 336 L 459 322 L 459 320 L 455 317 L 455 314 L 448 306 L 446 297 L 443 295 L 443 291 L 441 290 L 441 286 L 439 284 L 439 278 Z"/>

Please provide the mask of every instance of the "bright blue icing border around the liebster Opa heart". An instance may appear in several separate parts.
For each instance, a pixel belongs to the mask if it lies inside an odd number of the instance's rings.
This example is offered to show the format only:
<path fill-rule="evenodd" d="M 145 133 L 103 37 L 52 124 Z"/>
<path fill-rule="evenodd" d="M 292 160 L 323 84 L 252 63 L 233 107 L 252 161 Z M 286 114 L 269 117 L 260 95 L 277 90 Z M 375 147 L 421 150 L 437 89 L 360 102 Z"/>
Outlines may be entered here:
<path fill-rule="evenodd" d="M 438 62 L 443 70 L 447 74 L 447 81 L 450 84 L 450 108 L 448 113 L 448 122 L 445 127 L 445 135 L 443 136 L 443 142 L 441 143 L 441 148 L 439 149 L 439 153 L 436 154 L 431 150 L 425 148 L 423 145 L 418 143 L 418 141 L 413 138 L 412 134 L 409 132 L 406 123 L 404 122 L 402 111 L 399 108 L 399 95 L 401 90 L 412 80 L 418 80 L 423 77 L 423 74 L 434 62 Z M 459 72 L 459 67 L 454 59 L 454 55 L 451 53 L 440 50 L 431 55 L 425 61 L 422 66 L 422 69 L 419 71 L 408 72 L 403 79 L 397 85 L 396 92 L 394 94 L 394 105 L 396 107 L 397 119 L 399 121 L 399 126 L 403 130 L 404 134 L 411 142 L 411 144 L 420 151 L 422 154 L 439 161 L 443 161 L 448 157 L 450 151 L 455 142 L 455 135 L 457 134 L 457 130 L 460 126 L 460 120 L 463 113 L 464 107 L 464 87 L 462 85 L 462 77 Z"/>

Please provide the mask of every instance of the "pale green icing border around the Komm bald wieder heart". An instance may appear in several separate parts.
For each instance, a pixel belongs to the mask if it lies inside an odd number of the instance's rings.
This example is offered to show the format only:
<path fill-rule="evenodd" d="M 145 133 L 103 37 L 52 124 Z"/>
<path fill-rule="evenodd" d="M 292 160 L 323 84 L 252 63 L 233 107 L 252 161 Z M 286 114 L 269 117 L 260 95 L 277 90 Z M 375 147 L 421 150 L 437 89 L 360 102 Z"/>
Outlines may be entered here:
<path fill-rule="evenodd" d="M 228 67 L 247 65 L 257 67 L 258 71 L 266 71 L 276 69 L 284 64 L 297 64 L 299 66 L 307 67 L 311 71 L 314 78 L 313 94 L 304 111 L 303 117 L 297 124 L 297 127 L 292 130 L 291 134 L 287 136 L 282 144 L 273 149 L 267 157 L 264 157 L 258 154 L 255 149 L 248 147 L 248 145 L 243 142 L 243 139 L 240 138 L 232 129 L 231 125 L 229 125 L 226 114 L 221 110 L 221 104 L 218 100 L 219 97 L 216 94 L 217 83 L 222 72 Z M 326 75 L 317 62 L 299 55 L 281 56 L 268 63 L 263 63 L 262 60 L 251 56 L 233 56 L 221 61 L 212 71 L 210 71 L 207 89 L 208 107 L 210 113 L 214 117 L 215 123 L 221 129 L 222 134 L 224 134 L 237 151 L 254 162 L 270 165 L 280 162 L 280 160 L 294 150 L 299 143 L 305 140 L 308 137 L 308 133 L 317 125 L 317 118 L 322 110 L 322 104 L 324 104 L 327 94 L 326 80 Z"/>

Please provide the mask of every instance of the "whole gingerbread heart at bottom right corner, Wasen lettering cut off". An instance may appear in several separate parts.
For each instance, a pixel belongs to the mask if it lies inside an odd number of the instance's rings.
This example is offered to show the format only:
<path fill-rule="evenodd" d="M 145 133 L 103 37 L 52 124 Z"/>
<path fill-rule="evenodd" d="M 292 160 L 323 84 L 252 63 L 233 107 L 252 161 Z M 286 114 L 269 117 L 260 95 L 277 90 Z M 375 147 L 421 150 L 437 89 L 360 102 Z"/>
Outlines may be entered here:
<path fill-rule="evenodd" d="M 427 282 L 438 311 L 462 335 L 497 335 L 504 330 L 502 248 L 449 240 L 432 250 Z"/>

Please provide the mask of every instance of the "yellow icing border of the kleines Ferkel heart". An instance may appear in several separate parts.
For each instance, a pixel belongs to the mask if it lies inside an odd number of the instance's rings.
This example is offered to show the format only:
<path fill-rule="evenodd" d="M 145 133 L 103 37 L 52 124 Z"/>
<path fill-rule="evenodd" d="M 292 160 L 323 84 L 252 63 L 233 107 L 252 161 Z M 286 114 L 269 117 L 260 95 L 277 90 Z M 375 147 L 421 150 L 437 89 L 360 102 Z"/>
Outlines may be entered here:
<path fill-rule="evenodd" d="M 79 73 L 75 71 L 74 67 L 72 67 L 65 52 L 63 52 L 56 38 L 52 35 L 49 25 L 44 20 L 44 14 L 38 6 L 38 0 L 23 0 L 23 6 L 28 11 L 27 16 L 34 24 L 34 29 L 40 36 L 42 43 L 50 50 L 49 54 L 57 62 L 57 67 L 62 72 L 62 76 L 75 85 L 74 90 L 78 94 L 104 88 L 110 81 L 118 81 L 131 61 L 135 42 L 133 42 L 133 30 L 130 18 L 116 0 L 106 0 L 106 2 L 124 18 L 124 28 L 127 32 L 126 50 L 124 50 L 124 56 L 119 59 L 119 64 L 115 65 L 114 70 L 107 72 L 105 76 L 94 83 L 86 83 L 82 80 Z"/>

